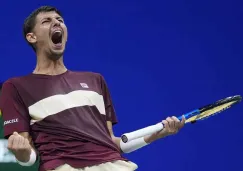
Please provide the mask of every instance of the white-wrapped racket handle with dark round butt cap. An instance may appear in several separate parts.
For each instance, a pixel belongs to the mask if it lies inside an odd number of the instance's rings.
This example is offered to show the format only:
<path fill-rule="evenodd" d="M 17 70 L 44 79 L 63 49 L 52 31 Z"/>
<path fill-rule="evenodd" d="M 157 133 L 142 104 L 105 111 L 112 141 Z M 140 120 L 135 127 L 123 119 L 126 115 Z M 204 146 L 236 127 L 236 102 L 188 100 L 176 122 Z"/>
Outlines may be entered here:
<path fill-rule="evenodd" d="M 121 139 L 124 143 L 127 143 L 131 140 L 144 137 L 146 135 L 151 135 L 153 133 L 156 133 L 164 128 L 162 123 L 158 123 L 156 125 L 148 126 L 142 129 L 139 129 L 137 131 L 133 131 L 130 133 L 125 133 L 121 136 Z"/>

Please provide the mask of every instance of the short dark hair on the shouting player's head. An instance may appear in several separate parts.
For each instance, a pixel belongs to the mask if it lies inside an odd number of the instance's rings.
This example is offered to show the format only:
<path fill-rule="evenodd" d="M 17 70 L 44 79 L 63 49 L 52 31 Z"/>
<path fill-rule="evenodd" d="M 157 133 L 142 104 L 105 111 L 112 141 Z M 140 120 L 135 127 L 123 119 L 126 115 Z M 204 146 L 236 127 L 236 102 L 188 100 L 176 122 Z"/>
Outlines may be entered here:
<path fill-rule="evenodd" d="M 35 9 L 24 21 L 24 26 L 23 26 L 23 32 L 24 32 L 24 38 L 25 40 L 28 42 L 28 40 L 26 39 L 26 34 L 30 33 L 33 31 L 35 24 L 36 24 L 36 17 L 39 13 L 42 12 L 51 12 L 54 11 L 56 12 L 58 15 L 62 16 L 61 11 L 59 11 L 57 8 L 52 7 L 52 6 L 41 6 L 37 9 Z M 28 44 L 34 49 L 34 51 L 36 51 L 35 47 L 28 42 Z"/>

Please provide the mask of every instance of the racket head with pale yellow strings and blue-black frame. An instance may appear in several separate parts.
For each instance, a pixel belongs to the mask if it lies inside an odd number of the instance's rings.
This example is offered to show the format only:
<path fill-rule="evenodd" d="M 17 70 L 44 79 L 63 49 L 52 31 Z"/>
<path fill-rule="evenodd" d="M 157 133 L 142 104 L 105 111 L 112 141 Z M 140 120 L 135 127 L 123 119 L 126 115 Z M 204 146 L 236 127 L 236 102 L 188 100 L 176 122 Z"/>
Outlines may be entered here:
<path fill-rule="evenodd" d="M 189 112 L 185 114 L 186 123 L 195 123 L 199 120 L 207 119 L 211 116 L 214 116 L 216 114 L 219 114 L 229 108 L 231 108 L 233 105 L 240 103 L 242 100 L 242 97 L 240 95 L 230 96 L 226 97 L 224 99 L 220 99 L 216 101 L 215 103 L 211 103 L 209 105 L 203 106 L 199 109 L 196 109 L 192 112 Z"/>

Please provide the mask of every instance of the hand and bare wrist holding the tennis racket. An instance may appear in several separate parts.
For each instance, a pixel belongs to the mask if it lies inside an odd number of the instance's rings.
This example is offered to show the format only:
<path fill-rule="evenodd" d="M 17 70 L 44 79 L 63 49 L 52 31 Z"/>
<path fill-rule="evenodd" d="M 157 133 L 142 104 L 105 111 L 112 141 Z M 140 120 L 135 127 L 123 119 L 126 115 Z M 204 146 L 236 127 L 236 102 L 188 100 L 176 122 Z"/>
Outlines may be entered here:
<path fill-rule="evenodd" d="M 146 136 L 145 141 L 147 143 L 151 143 L 157 139 L 164 138 L 168 135 L 176 134 L 185 124 L 185 117 L 182 117 L 180 121 L 177 117 L 167 117 L 166 120 L 163 120 L 162 123 L 164 125 L 163 130 L 156 132 L 152 135 Z"/>

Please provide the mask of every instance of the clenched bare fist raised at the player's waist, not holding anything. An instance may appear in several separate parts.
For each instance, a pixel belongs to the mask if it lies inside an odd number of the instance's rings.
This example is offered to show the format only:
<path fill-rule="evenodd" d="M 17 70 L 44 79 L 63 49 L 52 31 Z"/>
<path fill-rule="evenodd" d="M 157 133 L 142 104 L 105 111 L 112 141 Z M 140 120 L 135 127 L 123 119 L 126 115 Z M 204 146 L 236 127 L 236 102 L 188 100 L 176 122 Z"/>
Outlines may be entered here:
<path fill-rule="evenodd" d="M 14 132 L 8 138 L 8 149 L 15 155 L 21 162 L 28 162 L 31 154 L 31 145 L 29 140 L 17 132 Z"/>

